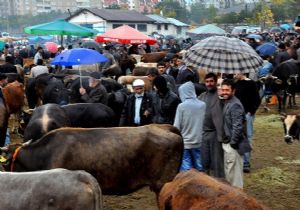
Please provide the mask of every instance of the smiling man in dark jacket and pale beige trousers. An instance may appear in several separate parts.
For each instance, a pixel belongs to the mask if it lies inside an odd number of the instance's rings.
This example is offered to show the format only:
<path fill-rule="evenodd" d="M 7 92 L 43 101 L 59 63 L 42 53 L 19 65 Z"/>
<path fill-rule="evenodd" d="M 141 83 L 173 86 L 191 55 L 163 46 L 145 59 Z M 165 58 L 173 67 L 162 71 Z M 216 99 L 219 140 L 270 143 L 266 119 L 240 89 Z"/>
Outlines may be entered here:
<path fill-rule="evenodd" d="M 243 155 L 251 151 L 245 131 L 245 111 L 240 100 L 234 96 L 233 80 L 221 85 L 223 107 L 223 150 L 226 180 L 235 187 L 243 188 Z"/>

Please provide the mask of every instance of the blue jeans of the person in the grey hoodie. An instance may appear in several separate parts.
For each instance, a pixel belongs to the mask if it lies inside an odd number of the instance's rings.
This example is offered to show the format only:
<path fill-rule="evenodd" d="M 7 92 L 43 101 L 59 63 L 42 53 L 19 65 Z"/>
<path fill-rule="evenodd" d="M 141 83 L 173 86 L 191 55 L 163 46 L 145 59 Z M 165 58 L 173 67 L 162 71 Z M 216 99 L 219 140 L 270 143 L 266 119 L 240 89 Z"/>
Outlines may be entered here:
<path fill-rule="evenodd" d="M 184 149 L 180 171 L 188 171 L 195 168 L 203 171 L 200 148 Z"/>

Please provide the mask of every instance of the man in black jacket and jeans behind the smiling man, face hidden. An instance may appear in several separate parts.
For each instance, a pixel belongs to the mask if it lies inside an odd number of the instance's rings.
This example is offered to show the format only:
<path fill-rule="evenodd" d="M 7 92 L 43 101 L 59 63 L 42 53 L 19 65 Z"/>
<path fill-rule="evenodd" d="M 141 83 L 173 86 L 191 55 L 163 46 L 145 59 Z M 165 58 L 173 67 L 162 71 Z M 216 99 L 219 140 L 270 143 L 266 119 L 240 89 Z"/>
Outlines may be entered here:
<path fill-rule="evenodd" d="M 236 74 L 235 79 L 237 80 L 235 96 L 244 107 L 247 121 L 247 137 L 250 144 L 252 144 L 254 115 L 261 102 L 258 88 L 253 80 L 248 79 L 242 73 Z M 250 152 L 244 154 L 244 172 L 250 172 Z"/>

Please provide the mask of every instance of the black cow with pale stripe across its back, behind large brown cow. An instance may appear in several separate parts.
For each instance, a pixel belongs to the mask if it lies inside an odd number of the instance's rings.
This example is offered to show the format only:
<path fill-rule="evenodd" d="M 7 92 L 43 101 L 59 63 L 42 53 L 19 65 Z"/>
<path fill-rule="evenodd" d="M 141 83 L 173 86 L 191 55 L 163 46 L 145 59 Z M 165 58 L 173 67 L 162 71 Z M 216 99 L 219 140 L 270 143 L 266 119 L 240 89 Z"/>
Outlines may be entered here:
<path fill-rule="evenodd" d="M 37 140 L 61 127 L 112 127 L 118 125 L 114 111 L 101 103 L 46 104 L 36 108 L 25 128 L 24 140 Z"/>

